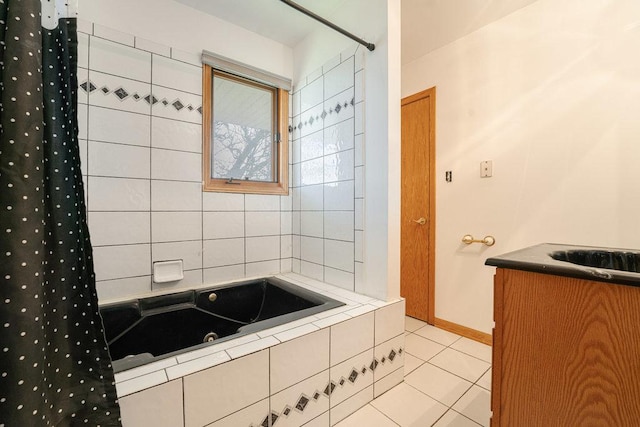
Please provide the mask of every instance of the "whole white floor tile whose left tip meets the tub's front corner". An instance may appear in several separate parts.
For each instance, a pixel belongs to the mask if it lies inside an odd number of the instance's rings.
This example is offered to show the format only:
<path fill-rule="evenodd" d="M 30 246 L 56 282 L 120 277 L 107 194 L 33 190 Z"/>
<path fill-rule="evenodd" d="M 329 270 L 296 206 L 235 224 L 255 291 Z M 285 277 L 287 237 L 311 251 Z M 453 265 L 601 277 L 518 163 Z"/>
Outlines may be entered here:
<path fill-rule="evenodd" d="M 405 382 L 447 406 L 453 405 L 472 385 L 430 363 L 409 374 Z"/>

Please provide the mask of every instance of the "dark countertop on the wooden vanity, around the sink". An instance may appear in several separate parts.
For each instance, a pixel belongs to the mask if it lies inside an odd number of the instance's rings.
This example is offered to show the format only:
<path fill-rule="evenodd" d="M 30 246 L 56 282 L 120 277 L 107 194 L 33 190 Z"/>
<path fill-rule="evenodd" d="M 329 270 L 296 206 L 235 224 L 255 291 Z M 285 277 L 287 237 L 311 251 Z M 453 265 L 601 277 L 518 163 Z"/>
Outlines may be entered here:
<path fill-rule="evenodd" d="M 560 260 L 567 258 L 579 264 Z M 542 243 L 491 257 L 485 265 L 640 287 L 640 250 L 633 249 Z"/>

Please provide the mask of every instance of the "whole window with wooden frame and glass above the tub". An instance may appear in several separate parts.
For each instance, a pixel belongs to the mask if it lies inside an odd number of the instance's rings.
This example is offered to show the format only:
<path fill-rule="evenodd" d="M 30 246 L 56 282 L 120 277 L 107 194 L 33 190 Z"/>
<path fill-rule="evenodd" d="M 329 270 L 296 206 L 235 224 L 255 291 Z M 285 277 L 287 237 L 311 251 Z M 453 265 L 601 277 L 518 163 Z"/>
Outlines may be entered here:
<path fill-rule="evenodd" d="M 204 190 L 287 194 L 289 93 L 204 65 Z"/>

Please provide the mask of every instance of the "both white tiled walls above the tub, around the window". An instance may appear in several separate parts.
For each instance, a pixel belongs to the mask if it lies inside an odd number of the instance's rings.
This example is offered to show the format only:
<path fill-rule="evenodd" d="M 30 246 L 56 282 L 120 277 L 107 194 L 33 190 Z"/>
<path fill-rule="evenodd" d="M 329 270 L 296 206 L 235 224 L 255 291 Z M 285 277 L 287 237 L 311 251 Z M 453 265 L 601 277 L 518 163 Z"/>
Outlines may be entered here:
<path fill-rule="evenodd" d="M 101 299 L 288 271 L 362 289 L 364 48 L 296 82 L 288 196 L 203 193 L 199 54 L 79 27 L 82 172 Z M 183 260 L 185 278 L 153 283 L 152 262 L 171 259 Z"/>

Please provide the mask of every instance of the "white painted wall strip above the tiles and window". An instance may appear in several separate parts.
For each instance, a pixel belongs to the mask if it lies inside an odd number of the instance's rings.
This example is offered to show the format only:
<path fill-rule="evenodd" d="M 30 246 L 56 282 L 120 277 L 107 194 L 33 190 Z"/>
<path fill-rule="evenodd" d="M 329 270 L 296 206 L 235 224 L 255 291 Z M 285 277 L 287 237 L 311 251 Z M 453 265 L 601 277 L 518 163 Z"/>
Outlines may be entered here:
<path fill-rule="evenodd" d="M 172 0 L 79 0 L 80 18 L 187 52 L 203 49 L 291 77 L 291 48 Z"/>

